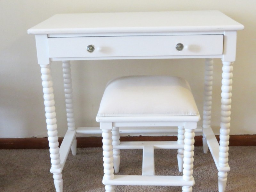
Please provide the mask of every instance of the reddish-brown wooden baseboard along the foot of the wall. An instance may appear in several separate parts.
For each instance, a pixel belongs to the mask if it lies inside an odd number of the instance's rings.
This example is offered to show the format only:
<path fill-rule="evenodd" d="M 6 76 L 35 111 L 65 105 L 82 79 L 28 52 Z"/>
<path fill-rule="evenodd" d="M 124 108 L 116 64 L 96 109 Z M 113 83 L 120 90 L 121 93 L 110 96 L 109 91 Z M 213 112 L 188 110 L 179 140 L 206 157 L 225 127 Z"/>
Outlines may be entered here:
<path fill-rule="evenodd" d="M 219 140 L 219 135 L 216 135 Z M 61 144 L 63 138 L 59 138 Z M 121 137 L 121 141 L 175 141 L 176 136 Z M 202 146 L 202 136 L 195 136 L 195 146 Z M 229 146 L 256 146 L 256 135 L 230 135 Z M 102 137 L 78 137 L 77 147 L 102 147 Z M 47 138 L 0 138 L 0 149 L 44 149 L 49 148 Z"/>

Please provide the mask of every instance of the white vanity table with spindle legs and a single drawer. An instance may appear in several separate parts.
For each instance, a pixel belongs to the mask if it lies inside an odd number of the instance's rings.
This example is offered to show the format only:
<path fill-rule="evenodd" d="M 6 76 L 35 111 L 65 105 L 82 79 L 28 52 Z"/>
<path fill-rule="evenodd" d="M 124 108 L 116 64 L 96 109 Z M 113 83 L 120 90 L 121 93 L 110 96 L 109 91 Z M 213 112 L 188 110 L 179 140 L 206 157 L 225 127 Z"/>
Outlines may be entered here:
<path fill-rule="evenodd" d="M 62 191 L 61 172 L 70 148 L 76 154 L 76 133 L 87 132 L 86 128 L 77 130 L 74 122 L 70 60 L 205 58 L 204 152 L 209 147 L 219 171 L 219 191 L 224 192 L 230 170 L 232 63 L 236 56 L 236 31 L 243 28 L 219 11 L 57 14 L 30 28 L 28 34 L 36 35 L 42 72 L 56 191 Z M 220 144 L 211 129 L 212 58 L 223 62 Z M 51 61 L 58 60 L 63 61 L 68 119 L 68 131 L 60 149 L 50 69 Z"/>

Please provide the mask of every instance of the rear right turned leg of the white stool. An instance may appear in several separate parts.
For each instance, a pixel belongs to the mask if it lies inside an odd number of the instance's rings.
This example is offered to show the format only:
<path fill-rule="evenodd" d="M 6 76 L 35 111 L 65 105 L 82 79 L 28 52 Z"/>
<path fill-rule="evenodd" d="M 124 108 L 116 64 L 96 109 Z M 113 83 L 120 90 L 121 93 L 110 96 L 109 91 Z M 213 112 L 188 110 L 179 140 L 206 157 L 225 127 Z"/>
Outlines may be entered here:
<path fill-rule="evenodd" d="M 185 128 L 183 126 L 178 126 L 178 144 L 181 144 L 184 146 L 184 136 L 185 133 Z M 177 159 L 178 159 L 178 166 L 179 166 L 179 171 L 182 172 L 183 171 L 183 158 L 184 158 L 184 148 L 182 149 L 178 149 L 178 155 L 177 155 Z"/>

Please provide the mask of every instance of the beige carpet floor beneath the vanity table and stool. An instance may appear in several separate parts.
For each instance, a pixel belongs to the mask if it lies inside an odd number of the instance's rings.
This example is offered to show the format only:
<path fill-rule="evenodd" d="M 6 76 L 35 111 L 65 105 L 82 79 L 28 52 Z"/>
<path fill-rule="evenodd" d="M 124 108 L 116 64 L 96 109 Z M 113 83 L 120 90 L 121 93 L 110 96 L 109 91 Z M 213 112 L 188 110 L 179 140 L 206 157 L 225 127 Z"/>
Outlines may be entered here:
<path fill-rule="evenodd" d="M 226 192 L 256 191 L 256 147 L 230 147 Z M 119 174 L 141 174 L 142 150 L 121 152 Z M 177 171 L 176 150 L 155 150 L 156 174 L 180 174 Z M 195 148 L 194 192 L 218 191 L 217 170 L 210 153 Z M 48 149 L 0 150 L 1 192 L 54 192 Z M 104 192 L 102 149 L 78 148 L 69 154 L 63 171 L 64 192 Z M 181 187 L 117 186 L 116 192 L 176 192 Z"/>

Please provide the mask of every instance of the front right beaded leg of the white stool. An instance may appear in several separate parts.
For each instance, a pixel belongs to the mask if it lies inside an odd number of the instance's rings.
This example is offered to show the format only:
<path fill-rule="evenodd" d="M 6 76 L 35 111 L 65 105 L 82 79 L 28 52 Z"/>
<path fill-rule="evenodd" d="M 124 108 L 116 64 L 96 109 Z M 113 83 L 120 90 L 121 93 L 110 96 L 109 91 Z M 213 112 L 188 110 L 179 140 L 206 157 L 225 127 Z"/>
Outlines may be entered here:
<path fill-rule="evenodd" d="M 183 164 L 183 180 L 191 181 L 193 180 L 193 162 L 194 162 L 194 129 L 185 128 L 185 140 L 184 140 L 184 164 Z M 182 192 L 191 192 L 191 186 L 183 186 Z"/>

